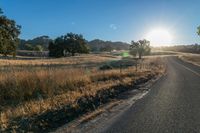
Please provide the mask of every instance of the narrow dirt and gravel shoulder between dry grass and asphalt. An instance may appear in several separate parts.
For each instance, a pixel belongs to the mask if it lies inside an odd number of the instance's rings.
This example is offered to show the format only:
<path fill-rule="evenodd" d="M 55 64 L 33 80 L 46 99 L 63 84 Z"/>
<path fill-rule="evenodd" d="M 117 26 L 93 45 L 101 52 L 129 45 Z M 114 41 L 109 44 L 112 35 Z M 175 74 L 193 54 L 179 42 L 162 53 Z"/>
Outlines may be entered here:
<path fill-rule="evenodd" d="M 122 93 L 112 102 L 102 105 L 94 112 L 88 113 L 79 119 L 60 127 L 55 131 L 55 133 L 101 132 L 103 127 L 108 126 L 112 123 L 112 121 L 117 119 L 117 117 L 130 108 L 136 101 L 148 94 L 150 88 L 152 88 L 156 82 L 164 77 L 165 74 L 159 75 L 158 77 L 139 85 L 137 89 Z"/>

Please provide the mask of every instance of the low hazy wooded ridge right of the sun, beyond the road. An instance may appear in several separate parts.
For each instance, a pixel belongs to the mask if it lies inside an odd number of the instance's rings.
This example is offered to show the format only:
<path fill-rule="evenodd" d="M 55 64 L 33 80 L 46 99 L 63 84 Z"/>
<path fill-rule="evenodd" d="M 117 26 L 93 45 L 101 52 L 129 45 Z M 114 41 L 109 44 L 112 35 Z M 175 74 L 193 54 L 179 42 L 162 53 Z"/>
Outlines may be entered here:
<path fill-rule="evenodd" d="M 161 49 L 162 50 L 166 50 L 166 51 L 186 52 L 186 53 L 200 54 L 200 45 L 199 44 L 193 44 L 193 45 L 176 45 L 176 46 L 162 47 Z"/>

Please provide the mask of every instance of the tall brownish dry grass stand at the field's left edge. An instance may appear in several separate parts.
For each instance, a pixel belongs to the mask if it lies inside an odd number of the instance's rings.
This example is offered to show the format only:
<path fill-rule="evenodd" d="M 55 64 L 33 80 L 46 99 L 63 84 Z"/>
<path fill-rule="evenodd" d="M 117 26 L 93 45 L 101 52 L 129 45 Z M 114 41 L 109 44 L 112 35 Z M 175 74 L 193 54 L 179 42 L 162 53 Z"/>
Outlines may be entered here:
<path fill-rule="evenodd" d="M 47 69 L 2 72 L 0 100 L 22 102 L 32 98 L 46 98 L 74 90 L 90 82 L 83 69 Z"/>

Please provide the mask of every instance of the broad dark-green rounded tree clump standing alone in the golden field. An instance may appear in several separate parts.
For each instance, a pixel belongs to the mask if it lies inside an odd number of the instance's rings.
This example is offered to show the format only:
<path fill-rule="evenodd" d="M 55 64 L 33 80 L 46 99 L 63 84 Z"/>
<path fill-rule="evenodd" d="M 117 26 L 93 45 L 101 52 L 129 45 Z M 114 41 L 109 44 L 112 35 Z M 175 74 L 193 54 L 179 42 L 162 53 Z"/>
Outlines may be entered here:
<path fill-rule="evenodd" d="M 86 40 L 82 35 L 68 33 L 49 43 L 50 57 L 74 56 L 76 53 L 89 53 Z"/>

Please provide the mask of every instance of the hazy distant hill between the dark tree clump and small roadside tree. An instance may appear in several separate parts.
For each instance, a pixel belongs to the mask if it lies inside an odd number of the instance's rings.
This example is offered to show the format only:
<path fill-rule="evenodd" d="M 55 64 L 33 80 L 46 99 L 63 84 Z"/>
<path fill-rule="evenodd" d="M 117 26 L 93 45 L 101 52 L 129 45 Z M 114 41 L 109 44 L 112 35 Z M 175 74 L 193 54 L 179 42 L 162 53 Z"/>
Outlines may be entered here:
<path fill-rule="evenodd" d="M 124 42 L 111 42 L 99 39 L 88 42 L 91 51 L 128 50 L 129 44 Z"/>

